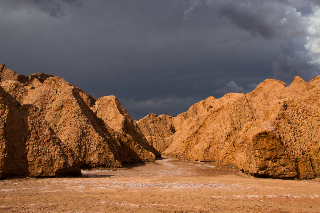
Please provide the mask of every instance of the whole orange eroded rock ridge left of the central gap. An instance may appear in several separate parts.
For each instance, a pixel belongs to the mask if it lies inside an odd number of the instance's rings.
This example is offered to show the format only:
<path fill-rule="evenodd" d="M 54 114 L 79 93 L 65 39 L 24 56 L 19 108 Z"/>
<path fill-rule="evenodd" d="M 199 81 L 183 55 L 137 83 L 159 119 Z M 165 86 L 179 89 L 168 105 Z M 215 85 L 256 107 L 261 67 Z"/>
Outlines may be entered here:
<path fill-rule="evenodd" d="M 104 103 L 95 105 L 97 99 L 60 77 L 24 76 L 0 64 L 0 83 L 0 178 L 79 175 L 81 167 L 154 162 L 159 155 L 129 114 L 131 126 L 111 128 Z"/>

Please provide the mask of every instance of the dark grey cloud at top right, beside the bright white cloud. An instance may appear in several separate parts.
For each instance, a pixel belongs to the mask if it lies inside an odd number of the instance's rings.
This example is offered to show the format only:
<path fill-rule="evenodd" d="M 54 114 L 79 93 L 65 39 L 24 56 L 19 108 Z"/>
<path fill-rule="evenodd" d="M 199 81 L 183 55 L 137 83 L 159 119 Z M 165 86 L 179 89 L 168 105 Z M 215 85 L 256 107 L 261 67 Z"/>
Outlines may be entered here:
<path fill-rule="evenodd" d="M 249 31 L 252 36 L 265 39 L 299 38 L 306 34 L 301 14 L 284 2 L 266 0 L 208 1 L 219 17 L 226 17 L 235 26 Z"/>

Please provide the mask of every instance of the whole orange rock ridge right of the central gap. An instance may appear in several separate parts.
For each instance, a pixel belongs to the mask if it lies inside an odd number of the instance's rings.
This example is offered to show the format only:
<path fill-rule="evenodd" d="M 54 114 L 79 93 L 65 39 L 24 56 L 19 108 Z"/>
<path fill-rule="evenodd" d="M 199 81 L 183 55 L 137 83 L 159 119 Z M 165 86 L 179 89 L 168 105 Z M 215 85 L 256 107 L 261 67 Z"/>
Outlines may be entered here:
<path fill-rule="evenodd" d="M 216 161 L 248 174 L 271 178 L 320 176 L 320 78 L 309 83 L 295 77 L 289 87 L 267 79 L 246 95 L 209 97 L 190 109 L 162 119 L 150 114 L 138 121 L 155 147 L 186 160 Z M 164 116 L 159 116 L 164 117 Z M 159 118 L 158 117 L 158 118 Z M 160 135 L 159 129 L 172 135 Z"/>

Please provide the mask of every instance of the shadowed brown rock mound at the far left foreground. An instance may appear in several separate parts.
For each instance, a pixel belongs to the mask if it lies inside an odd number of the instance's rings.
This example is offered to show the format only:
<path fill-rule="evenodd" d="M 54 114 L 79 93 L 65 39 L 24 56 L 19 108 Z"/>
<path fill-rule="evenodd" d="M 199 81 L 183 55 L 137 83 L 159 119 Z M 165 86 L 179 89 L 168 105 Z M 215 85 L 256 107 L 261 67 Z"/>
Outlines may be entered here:
<path fill-rule="evenodd" d="M 0 178 L 81 175 L 75 153 L 54 134 L 39 110 L 0 87 Z"/>

